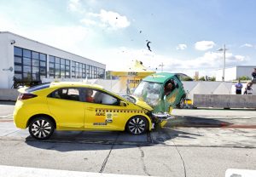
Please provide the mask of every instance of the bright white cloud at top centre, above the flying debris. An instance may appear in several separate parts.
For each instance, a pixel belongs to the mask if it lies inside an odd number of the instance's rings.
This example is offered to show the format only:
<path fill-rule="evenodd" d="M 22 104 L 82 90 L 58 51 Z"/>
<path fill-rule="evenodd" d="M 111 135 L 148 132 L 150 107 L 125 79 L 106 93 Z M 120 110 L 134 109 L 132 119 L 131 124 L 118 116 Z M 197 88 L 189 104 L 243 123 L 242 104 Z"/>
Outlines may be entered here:
<path fill-rule="evenodd" d="M 102 9 L 100 14 L 89 13 L 90 16 L 100 18 L 102 27 L 111 27 L 113 29 L 125 28 L 130 26 L 131 22 L 126 16 L 122 16 L 113 11 Z"/>

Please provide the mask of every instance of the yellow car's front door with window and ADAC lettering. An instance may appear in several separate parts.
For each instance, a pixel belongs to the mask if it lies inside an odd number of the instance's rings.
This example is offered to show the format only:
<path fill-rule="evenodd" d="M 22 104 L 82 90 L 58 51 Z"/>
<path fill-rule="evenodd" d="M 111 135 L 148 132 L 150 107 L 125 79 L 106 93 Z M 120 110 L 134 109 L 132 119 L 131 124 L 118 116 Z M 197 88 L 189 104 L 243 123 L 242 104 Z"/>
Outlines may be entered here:
<path fill-rule="evenodd" d="M 124 130 L 128 120 L 120 100 L 102 90 L 86 88 L 84 90 L 84 128 L 102 130 Z"/>

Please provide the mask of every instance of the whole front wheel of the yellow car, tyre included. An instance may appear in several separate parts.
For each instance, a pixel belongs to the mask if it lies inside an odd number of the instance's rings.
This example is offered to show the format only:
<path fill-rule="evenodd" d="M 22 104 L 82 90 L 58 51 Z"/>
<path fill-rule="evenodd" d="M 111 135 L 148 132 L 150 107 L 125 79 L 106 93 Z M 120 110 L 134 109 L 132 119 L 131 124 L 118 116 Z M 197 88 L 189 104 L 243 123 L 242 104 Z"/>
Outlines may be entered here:
<path fill-rule="evenodd" d="M 132 117 L 126 126 L 131 134 L 143 134 L 147 131 L 148 122 L 145 117 Z"/>

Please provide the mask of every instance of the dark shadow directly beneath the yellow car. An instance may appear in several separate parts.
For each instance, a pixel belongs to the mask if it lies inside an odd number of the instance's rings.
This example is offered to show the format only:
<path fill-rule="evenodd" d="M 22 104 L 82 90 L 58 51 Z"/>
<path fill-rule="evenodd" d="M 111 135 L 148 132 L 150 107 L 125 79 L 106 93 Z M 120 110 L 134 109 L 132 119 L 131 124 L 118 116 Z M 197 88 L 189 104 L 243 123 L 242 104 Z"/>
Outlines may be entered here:
<path fill-rule="evenodd" d="M 73 138 L 71 135 L 73 134 Z M 76 137 L 74 134 L 78 134 Z M 97 135 L 96 135 L 97 134 Z M 102 134 L 102 137 L 98 135 Z M 183 131 L 172 128 L 159 128 L 142 135 L 132 135 L 125 132 L 56 132 L 49 140 L 35 140 L 31 136 L 26 137 L 26 144 L 38 149 L 55 151 L 102 151 L 110 149 L 134 148 L 137 146 L 165 145 L 166 141 L 178 136 L 194 139 Z M 89 137 L 90 136 L 90 137 Z"/>

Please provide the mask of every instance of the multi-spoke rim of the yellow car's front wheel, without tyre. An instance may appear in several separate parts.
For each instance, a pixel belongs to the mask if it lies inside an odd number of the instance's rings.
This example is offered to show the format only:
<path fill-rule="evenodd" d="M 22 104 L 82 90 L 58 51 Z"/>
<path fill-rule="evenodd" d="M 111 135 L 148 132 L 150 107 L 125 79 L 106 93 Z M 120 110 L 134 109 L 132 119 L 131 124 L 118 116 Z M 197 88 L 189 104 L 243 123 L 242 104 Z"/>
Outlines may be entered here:
<path fill-rule="evenodd" d="M 142 134 L 146 128 L 146 123 L 142 118 L 135 117 L 128 123 L 128 128 L 132 134 Z"/>

